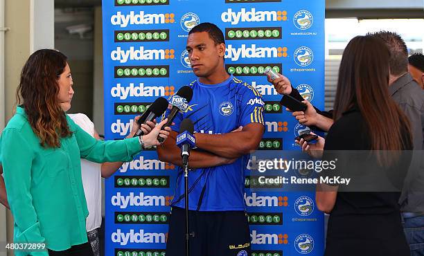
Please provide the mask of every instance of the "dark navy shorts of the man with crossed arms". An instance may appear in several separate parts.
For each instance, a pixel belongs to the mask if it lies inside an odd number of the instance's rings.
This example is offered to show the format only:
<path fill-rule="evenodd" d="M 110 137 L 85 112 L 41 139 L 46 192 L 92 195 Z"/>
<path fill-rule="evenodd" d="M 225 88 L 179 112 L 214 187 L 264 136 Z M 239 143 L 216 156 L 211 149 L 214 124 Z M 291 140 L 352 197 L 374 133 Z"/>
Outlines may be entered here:
<path fill-rule="evenodd" d="M 173 207 L 170 214 L 166 256 L 186 254 L 186 211 Z M 244 211 L 188 212 L 190 255 L 248 256 L 251 255 L 250 231 Z"/>

